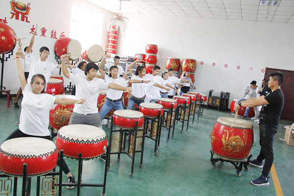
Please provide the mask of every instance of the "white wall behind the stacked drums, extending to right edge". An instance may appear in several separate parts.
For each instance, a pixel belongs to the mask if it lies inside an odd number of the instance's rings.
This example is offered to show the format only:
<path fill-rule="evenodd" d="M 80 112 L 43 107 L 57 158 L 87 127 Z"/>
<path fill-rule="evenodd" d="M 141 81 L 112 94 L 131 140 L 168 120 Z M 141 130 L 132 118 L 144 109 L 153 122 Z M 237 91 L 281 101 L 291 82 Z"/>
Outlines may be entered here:
<path fill-rule="evenodd" d="M 145 53 L 147 44 L 158 45 L 158 65 L 167 57 L 194 58 L 198 92 L 230 99 L 241 98 L 252 80 L 261 84 L 266 67 L 294 70 L 293 24 L 263 23 L 170 16 L 127 16 L 128 29 L 118 52 L 134 56 Z M 203 61 L 204 64 L 200 65 Z M 212 63 L 216 63 L 213 67 Z M 228 64 L 228 68 L 224 67 Z M 237 70 L 237 66 L 241 69 Z M 253 71 L 249 71 L 249 68 Z"/>

